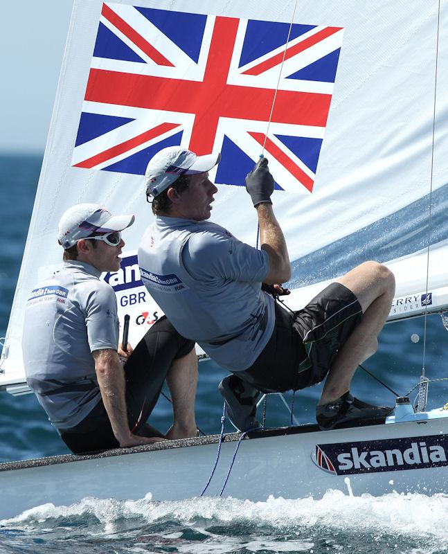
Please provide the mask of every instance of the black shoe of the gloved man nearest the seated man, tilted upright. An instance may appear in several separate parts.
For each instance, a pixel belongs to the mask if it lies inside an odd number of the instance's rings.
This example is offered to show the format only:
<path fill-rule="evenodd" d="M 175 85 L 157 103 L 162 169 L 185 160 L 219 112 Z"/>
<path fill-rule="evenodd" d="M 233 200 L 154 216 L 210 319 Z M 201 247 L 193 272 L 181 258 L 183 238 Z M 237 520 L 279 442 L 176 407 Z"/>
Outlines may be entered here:
<path fill-rule="evenodd" d="M 219 392 L 226 404 L 226 413 L 232 425 L 238 431 L 258 429 L 256 420 L 257 399 L 260 391 L 236 375 L 229 375 L 218 385 Z"/>

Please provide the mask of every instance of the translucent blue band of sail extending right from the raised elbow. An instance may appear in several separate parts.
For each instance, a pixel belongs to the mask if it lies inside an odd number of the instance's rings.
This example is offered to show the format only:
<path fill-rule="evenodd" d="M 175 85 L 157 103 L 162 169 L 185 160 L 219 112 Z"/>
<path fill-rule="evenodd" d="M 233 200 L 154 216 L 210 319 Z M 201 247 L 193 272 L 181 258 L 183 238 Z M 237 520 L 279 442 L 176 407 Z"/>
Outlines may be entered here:
<path fill-rule="evenodd" d="M 428 247 L 429 195 L 292 262 L 289 287 L 340 276 L 367 260 L 389 262 Z M 448 184 L 431 197 L 430 244 L 448 238 Z M 300 240 L 300 238 L 298 238 Z"/>

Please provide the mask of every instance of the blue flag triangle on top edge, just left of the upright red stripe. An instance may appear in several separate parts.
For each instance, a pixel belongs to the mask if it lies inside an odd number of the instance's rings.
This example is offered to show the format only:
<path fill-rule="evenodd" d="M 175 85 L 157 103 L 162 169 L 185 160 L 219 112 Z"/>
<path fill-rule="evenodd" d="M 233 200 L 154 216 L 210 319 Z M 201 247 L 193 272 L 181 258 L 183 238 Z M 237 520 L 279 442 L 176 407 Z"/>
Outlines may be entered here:
<path fill-rule="evenodd" d="M 207 21 L 206 15 L 154 10 L 154 8 L 135 7 L 135 9 L 197 63 Z"/>

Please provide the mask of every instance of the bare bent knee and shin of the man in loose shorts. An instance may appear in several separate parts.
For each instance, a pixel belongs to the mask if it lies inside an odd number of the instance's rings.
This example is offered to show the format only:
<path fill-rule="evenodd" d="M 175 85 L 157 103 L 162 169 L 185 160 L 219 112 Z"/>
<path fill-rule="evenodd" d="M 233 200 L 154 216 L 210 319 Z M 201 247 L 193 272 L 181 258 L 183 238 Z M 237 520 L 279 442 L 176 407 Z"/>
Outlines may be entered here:
<path fill-rule="evenodd" d="M 393 273 L 377 262 L 365 262 L 337 279 L 358 298 L 364 313 L 361 323 L 334 358 L 319 404 L 327 404 L 350 389 L 355 370 L 378 347 L 377 337 L 391 310 L 395 292 Z"/>

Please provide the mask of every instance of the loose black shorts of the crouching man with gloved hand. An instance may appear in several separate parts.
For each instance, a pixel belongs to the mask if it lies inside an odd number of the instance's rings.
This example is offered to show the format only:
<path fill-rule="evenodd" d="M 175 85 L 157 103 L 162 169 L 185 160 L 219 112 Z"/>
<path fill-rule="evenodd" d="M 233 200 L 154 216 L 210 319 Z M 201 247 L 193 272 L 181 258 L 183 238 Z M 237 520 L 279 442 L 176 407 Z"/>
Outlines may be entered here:
<path fill-rule="evenodd" d="M 266 393 L 319 383 L 361 319 L 357 297 L 341 283 L 328 285 L 298 312 L 276 303 L 274 332 L 264 350 L 250 368 L 233 373 Z"/>

